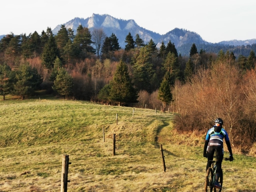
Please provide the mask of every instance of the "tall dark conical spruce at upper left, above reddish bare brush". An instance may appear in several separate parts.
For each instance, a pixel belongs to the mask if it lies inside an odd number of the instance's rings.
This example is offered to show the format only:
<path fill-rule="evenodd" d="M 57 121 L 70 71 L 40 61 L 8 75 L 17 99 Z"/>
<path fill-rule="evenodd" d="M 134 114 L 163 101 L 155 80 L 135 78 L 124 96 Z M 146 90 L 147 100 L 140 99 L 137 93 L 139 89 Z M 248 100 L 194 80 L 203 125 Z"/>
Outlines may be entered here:
<path fill-rule="evenodd" d="M 62 60 L 60 51 L 55 42 L 55 38 L 53 35 L 51 35 L 42 52 L 42 65 L 47 69 L 52 69 L 54 66 L 54 61 L 57 57 Z"/>

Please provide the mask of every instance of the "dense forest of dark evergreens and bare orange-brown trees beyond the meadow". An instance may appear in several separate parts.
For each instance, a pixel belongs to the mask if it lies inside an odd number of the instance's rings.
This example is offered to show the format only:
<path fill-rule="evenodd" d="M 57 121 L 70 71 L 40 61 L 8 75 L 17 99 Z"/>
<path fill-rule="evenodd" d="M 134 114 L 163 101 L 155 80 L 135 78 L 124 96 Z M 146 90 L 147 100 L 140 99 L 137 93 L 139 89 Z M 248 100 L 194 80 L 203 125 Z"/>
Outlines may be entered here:
<path fill-rule="evenodd" d="M 250 52 L 203 45 L 182 56 L 171 41 L 127 34 L 126 46 L 102 29 L 64 25 L 38 34 L 8 34 L 0 40 L 0 94 L 52 94 L 67 99 L 162 110 L 176 116 L 176 129 L 205 132 L 221 117 L 233 146 L 250 150 L 256 138 L 255 45 Z M 184 45 L 185 46 L 185 45 Z M 198 47 L 200 50 L 198 50 Z M 182 48 L 182 47 L 181 47 Z M 181 49 L 180 48 L 180 49 Z M 232 48 L 232 47 L 230 47 Z M 248 56 L 244 56 L 248 55 Z"/>

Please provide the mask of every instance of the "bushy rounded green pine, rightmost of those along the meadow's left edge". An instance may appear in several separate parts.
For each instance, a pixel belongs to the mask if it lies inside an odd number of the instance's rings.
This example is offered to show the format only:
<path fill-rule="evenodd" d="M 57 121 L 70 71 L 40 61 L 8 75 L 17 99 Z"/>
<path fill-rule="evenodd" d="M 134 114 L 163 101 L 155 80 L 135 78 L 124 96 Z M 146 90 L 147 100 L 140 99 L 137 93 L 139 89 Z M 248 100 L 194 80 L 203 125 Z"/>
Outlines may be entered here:
<path fill-rule="evenodd" d="M 68 98 L 73 93 L 73 78 L 68 74 L 64 68 L 60 68 L 54 85 L 52 86 L 53 90 L 58 92 L 58 94 Z"/>

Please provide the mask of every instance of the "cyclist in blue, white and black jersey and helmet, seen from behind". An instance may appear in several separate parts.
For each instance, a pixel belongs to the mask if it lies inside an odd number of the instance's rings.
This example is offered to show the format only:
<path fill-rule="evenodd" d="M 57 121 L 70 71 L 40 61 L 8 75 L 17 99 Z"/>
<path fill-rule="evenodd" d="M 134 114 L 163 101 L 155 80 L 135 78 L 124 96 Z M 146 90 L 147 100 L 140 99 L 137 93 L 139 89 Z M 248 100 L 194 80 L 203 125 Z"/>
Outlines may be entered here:
<path fill-rule="evenodd" d="M 230 146 L 230 141 L 228 138 L 228 133 L 224 128 L 222 128 L 223 125 L 223 120 L 221 118 L 217 118 L 215 121 L 215 125 L 208 130 L 205 138 L 205 143 L 204 143 L 204 157 L 208 159 L 207 166 L 206 166 L 206 171 L 208 168 L 211 166 L 210 160 L 213 160 L 213 155 L 215 152 L 216 155 L 216 176 L 215 176 L 215 188 L 220 188 L 221 186 L 218 182 L 220 178 L 220 172 L 221 172 L 221 163 L 223 160 L 223 155 L 224 155 L 224 149 L 223 149 L 223 138 L 225 138 L 226 145 L 228 147 L 229 151 L 229 160 L 233 161 L 233 154 L 232 154 L 232 149 Z M 207 151 L 207 153 L 206 153 Z"/>

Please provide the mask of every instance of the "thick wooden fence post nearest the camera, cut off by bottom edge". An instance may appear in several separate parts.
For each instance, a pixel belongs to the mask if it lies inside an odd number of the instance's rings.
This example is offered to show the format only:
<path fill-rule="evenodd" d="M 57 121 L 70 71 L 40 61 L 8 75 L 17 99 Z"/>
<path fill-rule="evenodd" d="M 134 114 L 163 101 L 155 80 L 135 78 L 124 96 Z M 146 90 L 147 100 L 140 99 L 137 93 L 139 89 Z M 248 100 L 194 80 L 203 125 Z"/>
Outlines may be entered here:
<path fill-rule="evenodd" d="M 60 192 L 67 192 L 68 191 L 68 165 L 71 164 L 69 162 L 69 156 L 63 155 L 62 157 L 62 172 L 61 172 L 61 189 Z"/>

